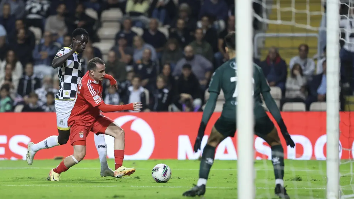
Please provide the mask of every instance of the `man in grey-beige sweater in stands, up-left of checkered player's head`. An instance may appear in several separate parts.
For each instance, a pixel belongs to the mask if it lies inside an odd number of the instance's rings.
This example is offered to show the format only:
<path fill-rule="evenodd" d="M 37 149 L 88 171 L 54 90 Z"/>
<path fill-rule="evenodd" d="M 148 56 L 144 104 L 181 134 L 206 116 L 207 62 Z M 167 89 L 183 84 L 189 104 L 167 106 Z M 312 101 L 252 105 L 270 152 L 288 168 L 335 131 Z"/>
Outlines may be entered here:
<path fill-rule="evenodd" d="M 68 33 L 67 24 L 65 24 L 65 13 L 65 4 L 60 4 L 57 8 L 57 14 L 49 16 L 45 24 L 45 31 L 57 33 L 59 36 L 57 41 L 61 44 L 64 42 L 64 36 Z M 70 20 L 74 20 L 73 16 L 70 16 Z"/>

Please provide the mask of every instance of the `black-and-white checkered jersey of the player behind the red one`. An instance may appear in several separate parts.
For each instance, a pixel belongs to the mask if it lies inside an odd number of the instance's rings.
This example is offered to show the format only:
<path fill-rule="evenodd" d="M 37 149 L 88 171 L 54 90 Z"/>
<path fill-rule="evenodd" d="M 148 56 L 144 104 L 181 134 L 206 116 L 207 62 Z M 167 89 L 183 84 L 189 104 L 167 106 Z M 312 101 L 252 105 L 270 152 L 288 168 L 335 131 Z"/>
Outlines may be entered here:
<path fill-rule="evenodd" d="M 71 51 L 70 48 L 60 49 L 55 57 L 60 57 Z M 74 100 L 78 83 L 81 80 L 81 60 L 78 53 L 73 53 L 62 66 L 58 68 L 60 89 L 55 99 Z"/>

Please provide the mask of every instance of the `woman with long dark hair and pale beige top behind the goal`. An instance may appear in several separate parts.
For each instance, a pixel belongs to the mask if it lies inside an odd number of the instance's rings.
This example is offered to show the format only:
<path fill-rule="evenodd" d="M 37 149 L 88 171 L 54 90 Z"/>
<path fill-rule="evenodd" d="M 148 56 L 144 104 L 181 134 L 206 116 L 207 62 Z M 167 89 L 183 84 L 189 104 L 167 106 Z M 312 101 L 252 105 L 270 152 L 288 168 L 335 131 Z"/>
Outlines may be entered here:
<path fill-rule="evenodd" d="M 280 110 L 286 102 L 304 102 L 307 96 L 307 79 L 302 73 L 302 67 L 296 63 L 293 65 L 290 77 L 286 79 L 285 98 L 280 100 Z"/>

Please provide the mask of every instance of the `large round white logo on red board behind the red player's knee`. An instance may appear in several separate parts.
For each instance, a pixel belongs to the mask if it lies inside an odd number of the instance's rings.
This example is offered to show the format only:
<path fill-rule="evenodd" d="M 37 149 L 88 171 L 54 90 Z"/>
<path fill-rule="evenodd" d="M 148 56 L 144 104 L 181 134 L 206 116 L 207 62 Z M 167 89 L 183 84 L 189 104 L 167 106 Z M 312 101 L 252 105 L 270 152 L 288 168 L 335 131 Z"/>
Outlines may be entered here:
<path fill-rule="evenodd" d="M 125 160 L 147 160 L 150 158 L 151 154 L 155 148 L 155 136 L 154 132 L 151 129 L 150 125 L 145 122 L 143 119 L 133 116 L 126 115 L 114 119 L 114 122 L 122 127 L 125 123 L 132 121 L 130 129 L 124 129 L 125 131 L 135 131 L 141 137 L 141 147 L 139 150 L 132 155 L 125 154 Z M 125 134 L 127 136 L 127 133 Z M 105 140 L 107 143 L 107 156 L 108 158 L 114 158 L 114 138 L 105 135 Z M 126 145 L 129 143 L 126 143 Z"/>

